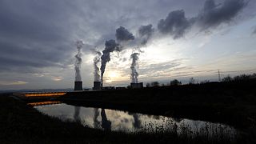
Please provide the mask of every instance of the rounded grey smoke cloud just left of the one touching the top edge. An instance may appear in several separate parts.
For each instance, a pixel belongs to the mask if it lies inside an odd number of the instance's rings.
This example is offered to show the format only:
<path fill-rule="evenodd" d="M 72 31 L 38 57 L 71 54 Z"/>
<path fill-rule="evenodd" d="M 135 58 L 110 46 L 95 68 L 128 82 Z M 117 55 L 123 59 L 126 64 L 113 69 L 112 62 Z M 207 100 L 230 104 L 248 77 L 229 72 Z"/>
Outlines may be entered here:
<path fill-rule="evenodd" d="M 190 27 L 189 20 L 185 17 L 184 10 L 171 11 L 166 19 L 158 22 L 158 30 L 162 34 L 171 34 L 173 38 L 180 38 Z"/>

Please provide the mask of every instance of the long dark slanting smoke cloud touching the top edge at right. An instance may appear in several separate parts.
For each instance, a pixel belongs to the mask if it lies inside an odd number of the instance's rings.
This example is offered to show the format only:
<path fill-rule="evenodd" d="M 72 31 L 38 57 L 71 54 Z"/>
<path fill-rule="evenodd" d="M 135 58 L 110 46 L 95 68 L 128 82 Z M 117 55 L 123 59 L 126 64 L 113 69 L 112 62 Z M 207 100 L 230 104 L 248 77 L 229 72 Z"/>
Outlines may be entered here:
<path fill-rule="evenodd" d="M 226 0 L 218 5 L 214 0 L 206 0 L 197 22 L 202 30 L 219 26 L 223 22 L 230 22 L 245 6 L 244 0 Z"/>

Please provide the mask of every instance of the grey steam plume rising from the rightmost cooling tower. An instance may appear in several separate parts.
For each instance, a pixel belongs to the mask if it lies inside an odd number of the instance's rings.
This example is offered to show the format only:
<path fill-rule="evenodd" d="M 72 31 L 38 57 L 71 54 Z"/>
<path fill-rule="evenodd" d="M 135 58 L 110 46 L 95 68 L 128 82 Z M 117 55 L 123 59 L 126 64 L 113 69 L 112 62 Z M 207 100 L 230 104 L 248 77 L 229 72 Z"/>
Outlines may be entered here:
<path fill-rule="evenodd" d="M 130 55 L 130 58 L 133 59 L 133 62 L 131 63 L 131 66 L 130 66 L 130 70 L 131 70 L 130 79 L 132 83 L 138 83 L 138 72 L 136 70 L 136 66 L 138 65 L 138 62 L 137 62 L 138 55 L 139 55 L 138 53 L 134 53 Z"/>

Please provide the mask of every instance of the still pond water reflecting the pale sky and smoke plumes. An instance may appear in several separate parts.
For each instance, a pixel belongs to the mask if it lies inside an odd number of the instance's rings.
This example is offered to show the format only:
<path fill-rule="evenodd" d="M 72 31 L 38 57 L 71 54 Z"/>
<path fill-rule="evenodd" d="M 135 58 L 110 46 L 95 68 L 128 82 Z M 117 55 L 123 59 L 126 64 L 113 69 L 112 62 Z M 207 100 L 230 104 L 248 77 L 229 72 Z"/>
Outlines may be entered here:
<path fill-rule="evenodd" d="M 121 130 L 125 132 L 177 132 L 177 134 L 226 135 L 231 138 L 237 131 L 219 123 L 170 118 L 165 116 L 130 113 L 120 110 L 108 110 L 65 103 L 34 106 L 43 114 L 60 118 L 62 121 L 81 122 L 83 126 L 102 130 Z"/>

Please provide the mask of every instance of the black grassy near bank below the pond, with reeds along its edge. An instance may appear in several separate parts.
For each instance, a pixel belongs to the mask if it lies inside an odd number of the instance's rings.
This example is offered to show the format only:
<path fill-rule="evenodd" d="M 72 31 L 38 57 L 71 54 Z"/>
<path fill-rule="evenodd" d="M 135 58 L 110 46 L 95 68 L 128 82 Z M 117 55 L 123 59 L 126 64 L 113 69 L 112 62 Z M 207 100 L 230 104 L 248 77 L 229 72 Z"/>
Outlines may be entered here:
<path fill-rule="evenodd" d="M 62 122 L 40 114 L 26 103 L 10 98 L 8 94 L 0 95 L 0 143 L 250 143 L 246 138 L 234 141 L 222 137 L 222 134 L 210 138 L 197 135 L 190 137 L 184 133 L 166 131 L 153 134 L 94 130 L 77 122 Z M 248 137 L 248 138 L 247 138 Z"/>

